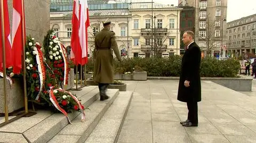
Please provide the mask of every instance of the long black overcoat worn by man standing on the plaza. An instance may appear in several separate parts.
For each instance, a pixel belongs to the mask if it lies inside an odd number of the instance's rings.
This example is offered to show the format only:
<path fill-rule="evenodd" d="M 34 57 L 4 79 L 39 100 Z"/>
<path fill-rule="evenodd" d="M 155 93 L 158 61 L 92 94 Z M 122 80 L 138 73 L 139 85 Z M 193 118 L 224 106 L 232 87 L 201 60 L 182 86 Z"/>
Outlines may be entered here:
<path fill-rule="evenodd" d="M 181 75 L 178 89 L 178 100 L 181 102 L 201 101 L 200 79 L 201 50 L 194 42 L 189 45 L 181 62 Z M 189 87 L 184 86 L 185 80 L 190 81 Z"/>

